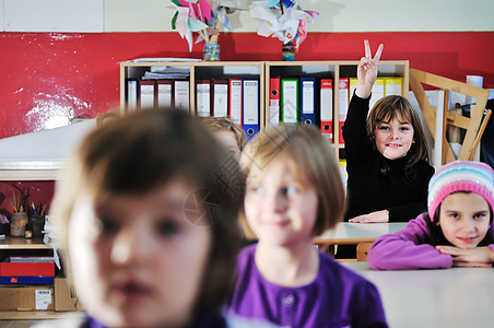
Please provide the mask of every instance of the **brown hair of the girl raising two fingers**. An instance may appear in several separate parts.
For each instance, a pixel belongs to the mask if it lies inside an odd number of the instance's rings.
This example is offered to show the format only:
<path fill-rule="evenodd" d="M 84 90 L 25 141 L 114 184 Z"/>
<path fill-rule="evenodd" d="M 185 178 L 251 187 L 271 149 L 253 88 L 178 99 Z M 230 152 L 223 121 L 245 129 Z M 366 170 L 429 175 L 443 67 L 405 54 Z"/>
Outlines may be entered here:
<path fill-rule="evenodd" d="M 428 149 L 419 114 L 405 97 L 390 95 L 377 101 L 367 117 L 367 136 L 372 143 L 376 145 L 374 136 L 377 125 L 384 120 L 390 121 L 398 116 L 413 127 L 414 143 L 409 150 L 408 162 L 404 167 L 405 173 L 412 174 L 410 177 L 413 178 L 413 173 L 411 172 L 413 165 L 420 160 L 428 162 Z"/>

